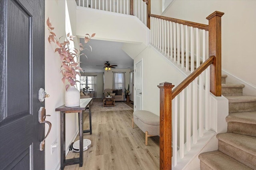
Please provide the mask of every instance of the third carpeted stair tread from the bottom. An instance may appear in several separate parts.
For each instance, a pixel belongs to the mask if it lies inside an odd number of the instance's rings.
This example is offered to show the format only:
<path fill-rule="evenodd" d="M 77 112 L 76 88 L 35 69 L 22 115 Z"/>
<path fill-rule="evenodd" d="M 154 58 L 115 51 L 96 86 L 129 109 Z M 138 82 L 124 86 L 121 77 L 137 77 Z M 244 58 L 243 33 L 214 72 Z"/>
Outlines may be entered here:
<path fill-rule="evenodd" d="M 229 113 L 229 115 L 226 117 L 226 121 L 256 124 L 256 111 Z"/>

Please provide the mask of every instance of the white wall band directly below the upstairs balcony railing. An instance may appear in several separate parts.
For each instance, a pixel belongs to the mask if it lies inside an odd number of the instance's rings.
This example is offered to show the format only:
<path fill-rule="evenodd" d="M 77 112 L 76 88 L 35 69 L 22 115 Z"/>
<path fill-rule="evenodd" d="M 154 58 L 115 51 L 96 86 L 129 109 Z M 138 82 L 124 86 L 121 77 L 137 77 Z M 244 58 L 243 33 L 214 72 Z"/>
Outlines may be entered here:
<path fill-rule="evenodd" d="M 80 37 L 96 33 L 94 39 L 148 43 L 149 29 L 135 16 L 77 7 L 76 18 Z"/>

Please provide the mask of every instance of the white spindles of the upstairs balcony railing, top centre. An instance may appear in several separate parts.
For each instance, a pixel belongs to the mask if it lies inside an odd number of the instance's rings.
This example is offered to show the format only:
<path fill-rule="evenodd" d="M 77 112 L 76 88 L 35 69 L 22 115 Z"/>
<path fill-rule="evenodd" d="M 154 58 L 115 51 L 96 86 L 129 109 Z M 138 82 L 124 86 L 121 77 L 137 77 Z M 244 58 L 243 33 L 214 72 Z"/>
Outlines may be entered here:
<path fill-rule="evenodd" d="M 133 0 L 134 15 L 147 25 L 147 4 Z M 130 0 L 76 0 L 78 6 L 130 15 Z"/>

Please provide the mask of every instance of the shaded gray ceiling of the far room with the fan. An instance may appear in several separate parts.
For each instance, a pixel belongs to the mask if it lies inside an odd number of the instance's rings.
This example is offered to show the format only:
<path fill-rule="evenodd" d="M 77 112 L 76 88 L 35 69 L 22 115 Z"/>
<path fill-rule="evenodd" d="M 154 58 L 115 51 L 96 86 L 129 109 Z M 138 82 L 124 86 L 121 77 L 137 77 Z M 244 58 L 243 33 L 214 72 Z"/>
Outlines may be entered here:
<path fill-rule="evenodd" d="M 84 39 L 80 38 L 80 43 L 84 44 Z M 92 39 L 87 44 L 92 47 L 92 52 L 84 50 L 88 58 L 80 57 L 80 67 L 84 72 L 104 72 L 106 61 L 110 65 L 118 65 L 116 68 L 133 68 L 133 59 L 122 50 L 123 43 Z"/>

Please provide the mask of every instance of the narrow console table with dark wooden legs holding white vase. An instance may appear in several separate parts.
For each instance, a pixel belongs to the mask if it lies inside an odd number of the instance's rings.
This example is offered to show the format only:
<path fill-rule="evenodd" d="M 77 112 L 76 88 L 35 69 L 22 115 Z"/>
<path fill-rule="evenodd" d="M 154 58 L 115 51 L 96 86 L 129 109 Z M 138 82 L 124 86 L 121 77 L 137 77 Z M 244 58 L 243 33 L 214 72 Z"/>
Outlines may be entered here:
<path fill-rule="evenodd" d="M 84 151 L 84 140 L 83 133 L 92 134 L 92 113 L 91 113 L 91 100 L 92 98 L 80 99 L 80 106 L 77 107 L 65 107 L 65 105 L 60 106 L 55 109 L 55 111 L 60 111 L 60 168 L 64 170 L 66 165 L 79 164 L 80 167 L 83 166 L 83 151 Z M 83 111 L 89 108 L 89 119 L 90 119 L 90 129 L 83 130 Z M 66 113 L 78 113 L 79 117 L 79 158 L 66 159 L 66 135 L 65 135 L 65 114 Z"/>

